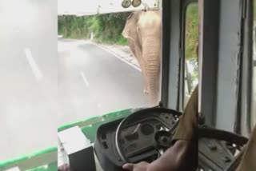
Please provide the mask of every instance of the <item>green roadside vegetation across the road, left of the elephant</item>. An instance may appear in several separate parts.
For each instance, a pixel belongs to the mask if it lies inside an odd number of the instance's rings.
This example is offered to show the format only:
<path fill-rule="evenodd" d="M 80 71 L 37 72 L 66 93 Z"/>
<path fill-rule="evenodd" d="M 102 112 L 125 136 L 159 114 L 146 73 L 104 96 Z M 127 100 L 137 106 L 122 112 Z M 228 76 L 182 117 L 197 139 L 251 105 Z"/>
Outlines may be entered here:
<path fill-rule="evenodd" d="M 58 35 L 63 38 L 89 39 L 94 33 L 97 42 L 126 45 L 122 30 L 130 13 L 100 14 L 77 17 L 74 15 L 58 16 Z"/>

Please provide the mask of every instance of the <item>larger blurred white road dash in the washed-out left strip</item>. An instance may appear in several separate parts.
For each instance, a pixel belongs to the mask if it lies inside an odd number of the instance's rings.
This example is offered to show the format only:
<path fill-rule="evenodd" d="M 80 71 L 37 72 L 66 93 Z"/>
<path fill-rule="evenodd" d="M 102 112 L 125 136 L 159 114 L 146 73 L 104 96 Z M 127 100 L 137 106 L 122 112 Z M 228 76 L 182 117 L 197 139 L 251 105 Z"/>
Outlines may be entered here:
<path fill-rule="evenodd" d="M 31 50 L 29 48 L 25 49 L 26 59 L 30 64 L 31 70 L 34 74 L 34 77 L 37 79 L 37 81 L 42 80 L 42 72 L 39 70 L 37 63 L 34 61 L 34 58 L 32 57 Z"/>

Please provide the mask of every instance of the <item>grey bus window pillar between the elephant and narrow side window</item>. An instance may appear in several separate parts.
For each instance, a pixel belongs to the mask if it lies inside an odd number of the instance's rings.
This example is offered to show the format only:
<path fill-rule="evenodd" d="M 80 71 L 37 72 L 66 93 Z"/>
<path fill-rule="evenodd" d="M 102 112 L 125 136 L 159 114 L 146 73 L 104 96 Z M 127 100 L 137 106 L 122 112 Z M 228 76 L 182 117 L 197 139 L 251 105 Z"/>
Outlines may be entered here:
<path fill-rule="evenodd" d="M 198 0 L 162 1 L 161 105 L 182 111 L 182 17 L 184 7 Z"/>

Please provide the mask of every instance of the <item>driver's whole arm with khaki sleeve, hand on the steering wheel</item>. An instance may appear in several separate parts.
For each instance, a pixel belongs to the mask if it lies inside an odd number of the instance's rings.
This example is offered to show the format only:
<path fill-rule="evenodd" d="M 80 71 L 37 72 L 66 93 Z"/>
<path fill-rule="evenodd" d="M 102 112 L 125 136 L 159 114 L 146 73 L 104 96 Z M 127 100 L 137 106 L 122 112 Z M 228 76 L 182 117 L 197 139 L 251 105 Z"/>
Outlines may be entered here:
<path fill-rule="evenodd" d="M 182 171 L 196 170 L 198 166 L 198 87 L 194 89 L 190 101 L 174 134 L 174 145 L 158 158 L 146 162 L 123 165 L 123 169 L 133 171 Z"/>

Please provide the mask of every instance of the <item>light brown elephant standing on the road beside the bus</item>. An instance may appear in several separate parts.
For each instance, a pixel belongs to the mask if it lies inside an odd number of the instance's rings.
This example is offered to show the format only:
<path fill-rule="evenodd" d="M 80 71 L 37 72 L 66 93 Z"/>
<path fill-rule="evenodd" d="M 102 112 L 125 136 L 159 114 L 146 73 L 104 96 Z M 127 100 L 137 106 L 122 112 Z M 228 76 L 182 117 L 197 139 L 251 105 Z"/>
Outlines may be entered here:
<path fill-rule="evenodd" d="M 159 96 L 161 14 L 159 10 L 137 10 L 130 14 L 122 30 L 137 58 L 144 80 L 144 93 L 156 104 Z"/>

